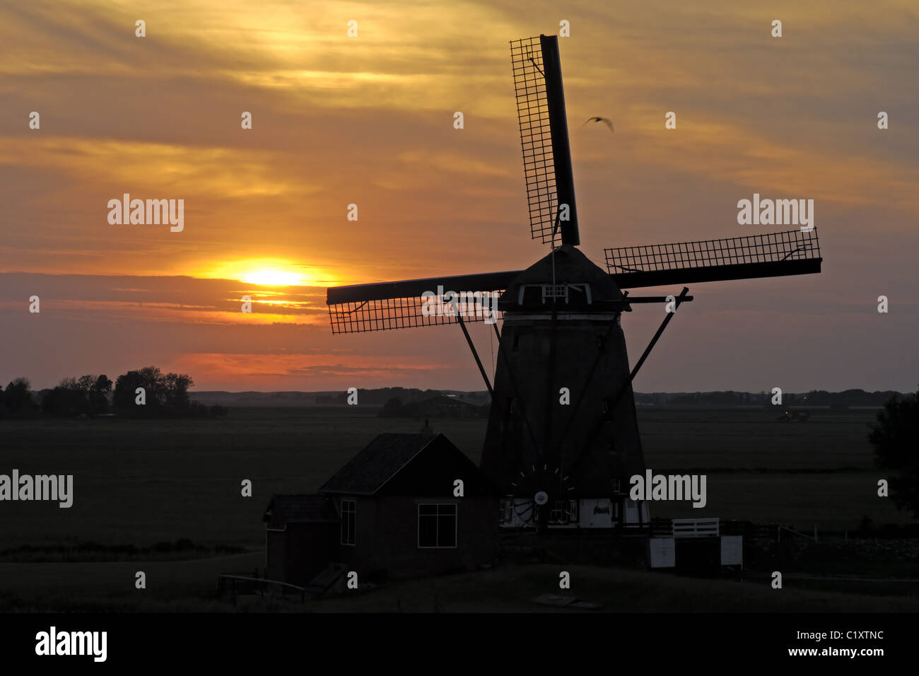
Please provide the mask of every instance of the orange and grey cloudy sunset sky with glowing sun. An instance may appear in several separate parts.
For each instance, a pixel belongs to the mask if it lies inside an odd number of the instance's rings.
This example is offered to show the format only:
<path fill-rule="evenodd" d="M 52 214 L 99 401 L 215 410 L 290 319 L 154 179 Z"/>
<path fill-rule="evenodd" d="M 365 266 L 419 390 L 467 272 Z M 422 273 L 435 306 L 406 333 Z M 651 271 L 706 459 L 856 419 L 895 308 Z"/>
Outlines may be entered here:
<path fill-rule="evenodd" d="M 562 20 L 589 258 L 787 229 L 737 223 L 754 193 L 814 201 L 821 274 L 691 285 L 635 389 L 914 391 L 919 6 L 893 0 L 2 2 L 0 381 L 154 364 L 199 391 L 482 389 L 459 327 L 333 336 L 325 288 L 548 253 L 508 41 Z M 184 200 L 182 231 L 109 223 L 124 193 Z M 663 313 L 623 317 L 633 363 Z"/>

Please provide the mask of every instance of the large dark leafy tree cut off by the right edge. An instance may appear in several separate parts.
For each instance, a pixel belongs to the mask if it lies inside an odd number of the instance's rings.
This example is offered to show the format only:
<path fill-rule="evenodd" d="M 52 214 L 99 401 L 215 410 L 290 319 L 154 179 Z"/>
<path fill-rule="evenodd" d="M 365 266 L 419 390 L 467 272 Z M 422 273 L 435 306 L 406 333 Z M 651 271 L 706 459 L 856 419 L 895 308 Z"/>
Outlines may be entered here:
<path fill-rule="evenodd" d="M 868 441 L 878 466 L 899 472 L 890 477 L 893 504 L 919 518 L 919 391 L 893 395 L 878 412 Z"/>

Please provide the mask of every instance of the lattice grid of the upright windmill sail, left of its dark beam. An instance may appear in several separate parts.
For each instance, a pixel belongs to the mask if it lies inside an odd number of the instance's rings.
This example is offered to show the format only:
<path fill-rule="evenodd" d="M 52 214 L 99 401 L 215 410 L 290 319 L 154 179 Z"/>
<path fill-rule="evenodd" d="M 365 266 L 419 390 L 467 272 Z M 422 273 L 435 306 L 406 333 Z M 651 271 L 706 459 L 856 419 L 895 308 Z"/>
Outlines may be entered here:
<path fill-rule="evenodd" d="M 530 235 L 542 244 L 550 244 L 557 190 L 542 47 L 538 37 L 511 40 L 510 44 Z"/>

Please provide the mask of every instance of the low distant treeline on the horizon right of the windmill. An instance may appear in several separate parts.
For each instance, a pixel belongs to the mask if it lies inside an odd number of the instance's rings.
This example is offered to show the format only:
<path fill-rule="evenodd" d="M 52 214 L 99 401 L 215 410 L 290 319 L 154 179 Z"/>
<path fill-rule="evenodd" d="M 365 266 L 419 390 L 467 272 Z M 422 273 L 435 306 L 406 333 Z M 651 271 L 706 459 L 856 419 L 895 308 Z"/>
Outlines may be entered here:
<path fill-rule="evenodd" d="M 902 396 L 901 392 L 884 390 L 866 392 L 865 390 L 844 390 L 827 392 L 811 390 L 810 392 L 782 393 L 782 406 L 787 407 L 882 407 L 892 396 Z M 639 404 L 656 406 L 723 406 L 751 407 L 772 406 L 771 392 L 652 392 L 635 393 Z"/>

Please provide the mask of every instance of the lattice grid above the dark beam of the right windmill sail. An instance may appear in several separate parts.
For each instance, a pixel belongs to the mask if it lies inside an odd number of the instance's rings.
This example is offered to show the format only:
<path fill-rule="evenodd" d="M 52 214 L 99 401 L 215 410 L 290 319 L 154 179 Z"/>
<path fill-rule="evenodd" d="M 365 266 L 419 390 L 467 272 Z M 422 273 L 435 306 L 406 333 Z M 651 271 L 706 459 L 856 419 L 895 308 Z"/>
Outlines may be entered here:
<path fill-rule="evenodd" d="M 820 258 L 817 229 L 604 249 L 609 274 L 781 263 Z"/>

